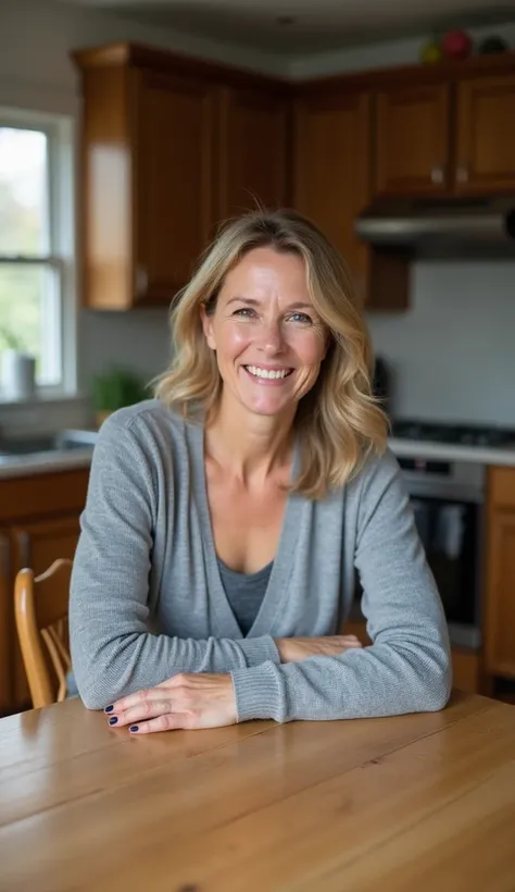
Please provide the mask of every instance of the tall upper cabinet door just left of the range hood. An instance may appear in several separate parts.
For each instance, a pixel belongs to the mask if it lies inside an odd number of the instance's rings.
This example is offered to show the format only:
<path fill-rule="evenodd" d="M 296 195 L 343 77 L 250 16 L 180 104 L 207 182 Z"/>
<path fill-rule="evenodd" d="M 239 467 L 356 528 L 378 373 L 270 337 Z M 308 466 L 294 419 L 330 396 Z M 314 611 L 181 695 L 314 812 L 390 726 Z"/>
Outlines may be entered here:
<path fill-rule="evenodd" d="M 368 248 L 354 220 L 370 198 L 370 98 L 316 96 L 294 111 L 294 207 L 343 255 L 364 297 Z"/>

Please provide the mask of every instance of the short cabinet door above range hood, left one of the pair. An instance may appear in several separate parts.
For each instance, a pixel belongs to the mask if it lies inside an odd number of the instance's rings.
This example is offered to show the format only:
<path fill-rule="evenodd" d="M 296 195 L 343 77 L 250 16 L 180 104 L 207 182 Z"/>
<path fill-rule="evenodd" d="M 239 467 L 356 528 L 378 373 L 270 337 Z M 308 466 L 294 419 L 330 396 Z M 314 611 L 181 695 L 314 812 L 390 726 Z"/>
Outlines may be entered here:
<path fill-rule="evenodd" d="M 394 87 L 376 98 L 379 195 L 439 194 L 449 188 L 447 85 Z"/>

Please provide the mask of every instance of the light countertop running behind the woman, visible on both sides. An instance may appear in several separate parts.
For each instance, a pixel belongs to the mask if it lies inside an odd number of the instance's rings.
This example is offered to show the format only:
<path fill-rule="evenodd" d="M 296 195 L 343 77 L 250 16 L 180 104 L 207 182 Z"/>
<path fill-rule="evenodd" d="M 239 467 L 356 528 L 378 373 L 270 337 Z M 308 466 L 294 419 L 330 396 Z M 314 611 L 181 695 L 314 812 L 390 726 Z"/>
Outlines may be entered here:
<path fill-rule="evenodd" d="M 443 461 L 474 461 L 482 464 L 502 464 L 515 468 L 514 448 L 487 448 L 482 446 L 457 446 L 449 443 L 428 443 L 391 437 L 388 445 L 398 457 L 435 458 Z M 26 476 L 50 471 L 65 471 L 73 468 L 88 468 L 91 463 L 92 447 L 53 453 L 0 457 L 0 480 L 2 478 Z"/>

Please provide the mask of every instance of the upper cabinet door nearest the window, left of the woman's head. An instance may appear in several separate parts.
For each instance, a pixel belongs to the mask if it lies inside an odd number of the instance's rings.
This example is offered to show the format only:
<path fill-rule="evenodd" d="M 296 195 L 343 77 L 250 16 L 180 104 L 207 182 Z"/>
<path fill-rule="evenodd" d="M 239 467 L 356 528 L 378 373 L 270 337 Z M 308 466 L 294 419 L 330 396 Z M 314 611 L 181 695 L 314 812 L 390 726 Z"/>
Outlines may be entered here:
<path fill-rule="evenodd" d="M 134 299 L 169 302 L 213 224 L 213 91 L 139 71 L 134 101 Z"/>

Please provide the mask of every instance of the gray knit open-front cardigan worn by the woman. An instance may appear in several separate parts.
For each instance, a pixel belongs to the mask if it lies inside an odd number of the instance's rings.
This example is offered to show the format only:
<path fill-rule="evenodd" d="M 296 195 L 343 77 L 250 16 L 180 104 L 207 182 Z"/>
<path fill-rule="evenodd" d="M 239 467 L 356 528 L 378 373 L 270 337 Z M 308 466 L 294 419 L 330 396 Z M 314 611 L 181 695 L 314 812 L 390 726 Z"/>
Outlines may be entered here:
<path fill-rule="evenodd" d="M 274 639 L 338 633 L 354 567 L 373 646 L 280 664 Z M 265 597 L 243 636 L 216 560 L 203 430 L 154 400 L 115 412 L 100 431 L 70 627 L 90 709 L 177 672 L 230 672 L 239 721 L 436 710 L 451 687 L 440 598 L 390 453 L 324 499 L 289 496 Z"/>

